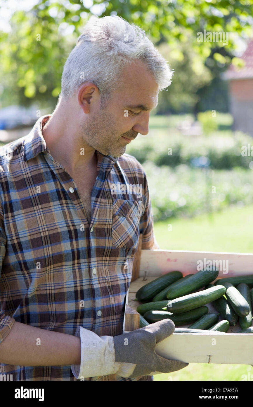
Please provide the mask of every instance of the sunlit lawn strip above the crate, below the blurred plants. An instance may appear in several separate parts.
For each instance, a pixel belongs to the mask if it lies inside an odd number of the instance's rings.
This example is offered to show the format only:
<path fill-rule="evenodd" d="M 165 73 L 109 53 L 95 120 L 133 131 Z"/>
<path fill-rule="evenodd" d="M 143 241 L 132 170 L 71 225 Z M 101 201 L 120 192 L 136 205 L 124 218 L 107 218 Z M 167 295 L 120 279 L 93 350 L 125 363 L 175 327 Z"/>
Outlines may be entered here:
<path fill-rule="evenodd" d="M 154 230 L 161 249 L 253 253 L 253 205 L 192 219 L 168 218 L 156 222 Z"/>

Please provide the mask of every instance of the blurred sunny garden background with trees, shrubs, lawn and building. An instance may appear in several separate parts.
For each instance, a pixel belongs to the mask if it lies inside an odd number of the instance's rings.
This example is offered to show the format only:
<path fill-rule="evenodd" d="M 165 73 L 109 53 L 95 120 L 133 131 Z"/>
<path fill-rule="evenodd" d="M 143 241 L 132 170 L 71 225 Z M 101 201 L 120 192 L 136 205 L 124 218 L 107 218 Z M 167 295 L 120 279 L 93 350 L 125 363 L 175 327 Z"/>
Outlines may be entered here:
<path fill-rule="evenodd" d="M 0 144 L 52 113 L 85 22 L 105 15 L 145 30 L 175 71 L 126 151 L 147 174 L 160 248 L 252 253 L 251 0 L 0 1 Z M 253 380 L 253 368 L 191 363 L 155 380 Z"/>

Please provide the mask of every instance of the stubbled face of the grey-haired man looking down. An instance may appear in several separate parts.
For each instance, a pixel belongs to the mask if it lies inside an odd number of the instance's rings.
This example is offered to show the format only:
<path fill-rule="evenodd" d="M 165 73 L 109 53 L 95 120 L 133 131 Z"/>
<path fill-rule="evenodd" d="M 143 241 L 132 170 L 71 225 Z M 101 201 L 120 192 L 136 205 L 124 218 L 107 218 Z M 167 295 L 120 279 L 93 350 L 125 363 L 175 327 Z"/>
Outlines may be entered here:
<path fill-rule="evenodd" d="M 87 115 L 82 123 L 84 141 L 104 155 L 119 157 L 125 153 L 129 141 L 149 131 L 149 114 L 157 105 L 159 85 L 138 61 L 123 71 L 123 85 L 112 93 L 106 107 Z M 147 107 L 147 111 L 140 107 Z M 124 138 L 126 137 L 126 138 Z"/>

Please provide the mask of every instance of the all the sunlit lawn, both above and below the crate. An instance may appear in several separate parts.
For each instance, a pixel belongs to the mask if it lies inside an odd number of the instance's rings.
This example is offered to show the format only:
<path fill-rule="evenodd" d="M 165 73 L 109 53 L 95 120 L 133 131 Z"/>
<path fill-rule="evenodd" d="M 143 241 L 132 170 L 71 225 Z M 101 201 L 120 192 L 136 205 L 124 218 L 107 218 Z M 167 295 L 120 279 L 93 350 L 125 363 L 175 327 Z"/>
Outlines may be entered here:
<path fill-rule="evenodd" d="M 172 230 L 168 231 L 168 224 Z M 207 252 L 253 252 L 253 205 L 228 208 L 212 217 L 167 219 L 154 224 L 160 249 Z M 156 374 L 155 381 L 241 381 L 253 380 L 251 365 L 190 363 L 186 368 L 168 374 Z M 243 376 L 246 375 L 246 376 Z"/>

